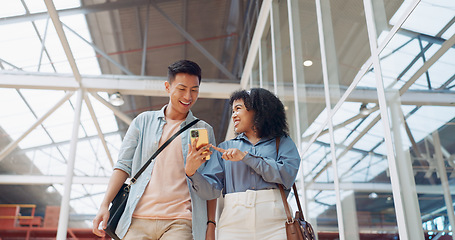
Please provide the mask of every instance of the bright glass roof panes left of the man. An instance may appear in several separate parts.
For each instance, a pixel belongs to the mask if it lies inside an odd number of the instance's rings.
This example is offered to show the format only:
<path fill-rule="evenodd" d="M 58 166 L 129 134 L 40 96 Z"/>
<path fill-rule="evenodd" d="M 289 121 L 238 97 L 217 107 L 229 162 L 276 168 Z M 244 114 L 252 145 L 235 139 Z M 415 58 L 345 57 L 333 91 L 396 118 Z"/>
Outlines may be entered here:
<path fill-rule="evenodd" d="M 68 0 L 57 0 L 54 1 L 54 4 L 57 10 L 81 6 L 80 1 Z M 0 18 L 47 12 L 44 1 L 8 0 L 1 1 L 1 5 Z M 91 42 L 85 16 L 83 14 L 63 16 L 60 20 L 64 24 L 66 37 L 80 73 L 100 75 L 97 55 L 93 48 L 85 42 Z M 69 31 L 65 26 L 80 36 Z M 72 74 L 56 30 L 47 16 L 33 22 L 23 17 L 15 23 L 0 24 L 0 69 Z M 18 139 L 65 94 L 64 91 L 58 90 L 0 88 L 0 127 L 11 141 Z M 106 93 L 99 94 L 108 100 Z M 117 121 L 111 110 L 91 96 L 89 98 L 105 135 L 109 151 L 114 158 L 117 156 L 121 144 Z M 19 153 L 25 153 L 43 175 L 63 176 L 66 174 L 75 103 L 76 94 L 18 144 Z M 112 173 L 111 164 L 85 104 L 82 105 L 79 138 L 75 176 L 109 177 Z M 3 150 L 5 147 L 1 146 L 0 149 Z M 17 151 L 10 155 L 13 154 L 17 154 Z M 104 184 L 74 184 L 70 206 L 78 214 L 95 214 L 105 189 Z M 57 190 L 63 195 L 64 189 L 63 185 L 54 184 L 48 190 Z M 91 224 L 91 220 L 88 220 L 87 224 Z"/>

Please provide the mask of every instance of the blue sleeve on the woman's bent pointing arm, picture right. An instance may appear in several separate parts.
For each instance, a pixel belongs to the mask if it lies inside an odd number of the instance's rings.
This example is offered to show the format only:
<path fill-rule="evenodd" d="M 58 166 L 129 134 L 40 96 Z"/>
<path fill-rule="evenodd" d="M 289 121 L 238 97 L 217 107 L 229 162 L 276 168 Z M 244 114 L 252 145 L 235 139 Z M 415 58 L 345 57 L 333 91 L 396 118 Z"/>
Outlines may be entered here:
<path fill-rule="evenodd" d="M 276 152 L 276 151 L 275 151 Z M 242 161 L 250 166 L 264 181 L 292 187 L 300 165 L 300 155 L 290 137 L 282 137 L 278 157 L 261 157 L 247 154 Z"/>

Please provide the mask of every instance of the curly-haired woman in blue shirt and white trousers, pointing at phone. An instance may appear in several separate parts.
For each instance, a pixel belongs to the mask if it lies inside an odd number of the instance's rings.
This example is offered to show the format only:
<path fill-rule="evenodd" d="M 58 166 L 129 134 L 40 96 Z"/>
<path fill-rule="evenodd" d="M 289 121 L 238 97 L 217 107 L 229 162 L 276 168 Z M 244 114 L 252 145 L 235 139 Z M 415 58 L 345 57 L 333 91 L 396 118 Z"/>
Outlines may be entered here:
<path fill-rule="evenodd" d="M 300 157 L 288 134 L 284 106 L 262 88 L 234 92 L 230 104 L 237 136 L 213 147 L 201 172 L 203 157 L 187 161 L 185 172 L 201 198 L 217 198 L 223 191 L 218 239 L 286 239 L 278 184 L 292 187 Z M 197 154 L 195 148 L 190 151 Z"/>

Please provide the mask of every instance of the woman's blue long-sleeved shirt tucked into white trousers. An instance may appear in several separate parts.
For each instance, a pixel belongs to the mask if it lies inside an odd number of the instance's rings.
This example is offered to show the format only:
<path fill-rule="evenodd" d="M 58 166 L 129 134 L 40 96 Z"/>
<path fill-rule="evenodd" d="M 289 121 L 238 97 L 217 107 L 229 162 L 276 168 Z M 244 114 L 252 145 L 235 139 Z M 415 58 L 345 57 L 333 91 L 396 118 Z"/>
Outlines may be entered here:
<path fill-rule="evenodd" d="M 193 189 L 203 199 L 217 198 L 223 194 L 278 188 L 283 184 L 290 189 L 300 165 L 300 155 L 289 136 L 280 139 L 278 154 L 276 139 L 261 139 L 253 145 L 244 134 L 222 142 L 223 149 L 238 148 L 248 154 L 238 162 L 225 161 L 214 151 L 207 166 L 193 176 Z M 289 193 L 289 191 L 286 191 Z"/>

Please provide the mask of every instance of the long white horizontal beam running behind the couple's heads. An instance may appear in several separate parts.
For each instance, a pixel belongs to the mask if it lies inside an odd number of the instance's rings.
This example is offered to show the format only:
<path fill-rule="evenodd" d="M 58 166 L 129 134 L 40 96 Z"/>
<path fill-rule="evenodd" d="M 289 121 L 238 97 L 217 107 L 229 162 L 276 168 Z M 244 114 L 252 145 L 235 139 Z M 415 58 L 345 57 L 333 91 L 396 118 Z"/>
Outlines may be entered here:
<path fill-rule="evenodd" d="M 82 76 L 82 84 L 89 92 L 121 92 L 124 95 L 167 96 L 163 83 L 167 77 L 141 77 L 124 75 Z M 204 79 L 199 92 L 200 98 L 228 99 L 240 88 L 239 83 L 225 83 L 224 80 Z M 74 77 L 63 74 L 31 74 L 26 72 L 0 71 L 0 88 L 27 88 L 70 90 L 78 89 Z M 347 88 L 341 88 L 342 94 Z M 301 90 L 303 91 L 303 89 Z M 301 92 L 298 91 L 298 92 Z M 324 102 L 322 85 L 306 85 L 306 102 Z M 284 98 L 293 99 L 291 86 L 285 87 Z M 283 100 L 285 100 L 283 99 Z M 447 90 L 408 90 L 401 96 L 403 105 L 455 106 L 455 92 Z M 348 102 L 377 102 L 374 88 L 356 88 L 347 98 Z"/>

